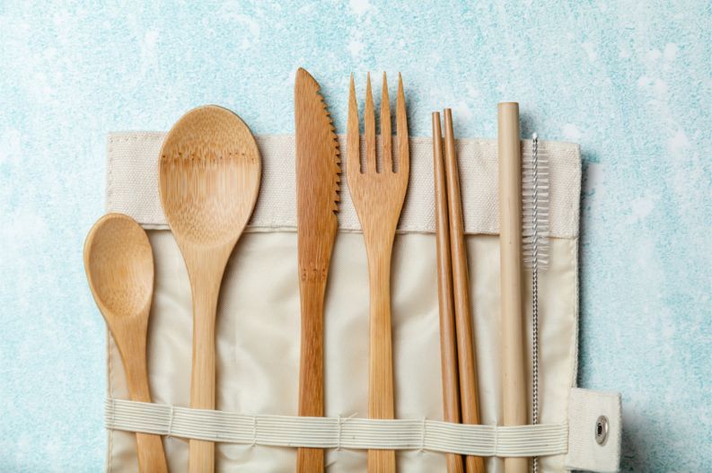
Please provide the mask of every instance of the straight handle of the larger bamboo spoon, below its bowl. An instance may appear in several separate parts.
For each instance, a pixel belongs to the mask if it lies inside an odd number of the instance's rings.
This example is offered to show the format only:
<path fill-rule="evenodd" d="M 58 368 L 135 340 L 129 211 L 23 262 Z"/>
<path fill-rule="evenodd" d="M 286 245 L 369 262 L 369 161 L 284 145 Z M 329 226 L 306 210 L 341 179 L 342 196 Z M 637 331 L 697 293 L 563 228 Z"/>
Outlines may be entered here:
<path fill-rule="evenodd" d="M 212 273 L 215 275 L 215 272 Z M 222 278 L 222 272 L 218 273 Z M 193 369 L 190 378 L 190 407 L 215 409 L 215 310 L 220 288 L 208 276 L 192 277 L 193 285 Z M 190 473 L 215 470 L 215 443 L 191 439 Z"/>

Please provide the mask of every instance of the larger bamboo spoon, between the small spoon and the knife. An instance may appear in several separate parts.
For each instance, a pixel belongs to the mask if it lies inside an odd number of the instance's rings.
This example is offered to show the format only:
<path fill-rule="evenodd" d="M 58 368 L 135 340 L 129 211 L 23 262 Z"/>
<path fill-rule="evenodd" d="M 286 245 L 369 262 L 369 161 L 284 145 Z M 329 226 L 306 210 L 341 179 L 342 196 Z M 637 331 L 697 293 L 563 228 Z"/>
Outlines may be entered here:
<path fill-rule="evenodd" d="M 161 203 L 193 294 L 193 408 L 215 408 L 217 297 L 227 259 L 255 206 L 260 176 L 250 128 L 228 109 L 209 105 L 190 110 L 163 142 Z M 214 469 L 214 443 L 191 439 L 189 471 Z"/>

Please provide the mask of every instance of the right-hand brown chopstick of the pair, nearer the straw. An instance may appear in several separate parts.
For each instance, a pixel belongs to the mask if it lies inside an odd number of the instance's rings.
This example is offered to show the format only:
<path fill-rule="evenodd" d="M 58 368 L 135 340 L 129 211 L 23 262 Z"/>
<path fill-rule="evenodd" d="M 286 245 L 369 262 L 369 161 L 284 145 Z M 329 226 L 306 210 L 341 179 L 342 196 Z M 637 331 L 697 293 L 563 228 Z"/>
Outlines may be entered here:
<path fill-rule="evenodd" d="M 457 165 L 453 111 L 444 110 L 445 125 L 445 176 L 447 180 L 447 208 L 450 223 L 450 250 L 453 258 L 453 297 L 455 328 L 460 372 L 460 403 L 463 424 L 479 424 L 479 383 L 477 359 L 470 317 L 470 276 L 468 272 L 467 247 L 465 246 L 462 201 L 460 196 L 460 171 Z M 465 458 L 468 473 L 483 473 L 482 457 Z"/>

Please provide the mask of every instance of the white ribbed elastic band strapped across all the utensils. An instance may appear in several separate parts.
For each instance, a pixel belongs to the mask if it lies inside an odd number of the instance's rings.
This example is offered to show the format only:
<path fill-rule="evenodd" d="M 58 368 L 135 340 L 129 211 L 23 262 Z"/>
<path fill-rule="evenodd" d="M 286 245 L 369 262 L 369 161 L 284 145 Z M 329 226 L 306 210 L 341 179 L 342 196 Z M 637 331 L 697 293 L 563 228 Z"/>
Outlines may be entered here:
<path fill-rule="evenodd" d="M 171 414 L 172 413 L 172 414 Z M 173 420 L 171 422 L 171 417 Z M 567 452 L 567 424 L 463 425 L 435 420 L 248 416 L 107 399 L 106 427 L 212 442 L 531 457 Z"/>

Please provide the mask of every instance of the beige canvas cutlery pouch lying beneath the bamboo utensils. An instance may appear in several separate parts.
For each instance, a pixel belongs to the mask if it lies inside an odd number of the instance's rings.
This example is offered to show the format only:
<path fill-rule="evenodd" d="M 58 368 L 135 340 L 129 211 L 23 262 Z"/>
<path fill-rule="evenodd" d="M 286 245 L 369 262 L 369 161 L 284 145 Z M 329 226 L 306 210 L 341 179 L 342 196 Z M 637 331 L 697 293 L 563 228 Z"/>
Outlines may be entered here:
<path fill-rule="evenodd" d="M 295 449 L 289 445 L 294 442 L 329 447 L 326 461 L 331 472 L 365 471 L 362 447 L 369 442 L 398 448 L 403 472 L 444 471 L 442 451 L 448 449 L 488 455 L 489 472 L 503 471 L 501 458 L 493 455 L 532 451 L 541 454 L 541 471 L 618 469 L 620 395 L 576 389 L 581 182 L 577 145 L 540 142 L 542 152 L 549 154 L 551 173 L 551 258 L 540 282 L 541 425 L 507 434 L 506 428 L 498 427 L 502 383 L 497 143 L 476 139 L 457 143 L 484 426 L 456 430 L 457 425 L 440 422 L 432 145 L 429 138 L 411 139 L 409 194 L 395 240 L 391 282 L 395 408 L 396 416 L 406 420 L 392 421 L 393 425 L 400 422 L 402 437 L 374 441 L 369 435 L 375 427 L 361 420 L 368 412 L 367 263 L 346 179 L 342 179 L 339 232 L 325 308 L 325 415 L 329 418 L 323 425 L 306 428 L 294 417 L 300 306 L 293 136 L 257 137 L 263 166 L 258 204 L 226 268 L 217 314 L 218 412 L 187 408 L 190 289 L 158 196 L 157 160 L 164 136 L 154 132 L 109 136 L 107 211 L 131 215 L 145 227 L 155 260 L 148 340 L 154 404 L 124 400 L 128 394 L 123 367 L 108 337 L 109 471 L 136 471 L 131 431 L 164 434 L 172 472 L 187 470 L 187 437 L 200 435 L 218 441 L 215 465 L 224 472 L 293 471 Z M 525 142 L 523 149 L 527 149 Z M 531 293 L 525 305 L 531 307 Z M 527 318 L 531 330 L 531 310 Z M 531 354 L 531 333 L 526 340 L 525 353 Z M 602 434 L 602 418 L 608 430 L 605 442 L 599 444 L 596 431 Z"/>

